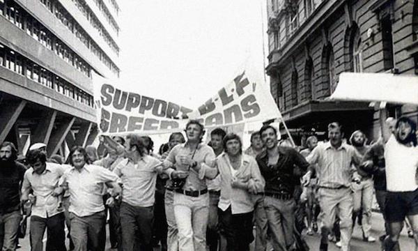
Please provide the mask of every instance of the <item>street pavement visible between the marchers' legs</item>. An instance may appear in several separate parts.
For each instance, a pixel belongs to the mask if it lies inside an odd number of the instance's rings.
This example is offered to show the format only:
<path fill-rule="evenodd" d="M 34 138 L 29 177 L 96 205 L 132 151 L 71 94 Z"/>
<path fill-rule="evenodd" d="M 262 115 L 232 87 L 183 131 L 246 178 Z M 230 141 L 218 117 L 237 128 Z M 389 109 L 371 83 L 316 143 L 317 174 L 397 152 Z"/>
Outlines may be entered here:
<path fill-rule="evenodd" d="M 384 233 L 384 221 L 383 221 L 382 215 L 380 215 L 380 213 L 373 213 L 371 222 L 372 222 L 371 234 L 372 236 L 376 237 L 376 239 L 378 239 L 378 236 Z M 109 233 L 109 231 L 107 231 L 107 233 Z M 320 236 L 318 233 L 314 234 L 313 236 L 306 236 L 306 240 L 311 250 L 318 250 L 319 241 L 320 241 Z M 46 241 L 46 238 L 44 238 L 44 241 Z M 18 251 L 31 250 L 30 245 L 29 245 L 29 224 L 28 224 L 28 234 L 26 234 L 25 238 L 20 239 L 20 245 L 22 245 L 22 248 L 18 249 Z M 408 238 L 408 234 L 406 232 L 405 227 L 401 233 L 400 245 L 401 245 L 401 250 L 409 251 L 409 250 L 415 249 L 414 240 L 412 238 Z M 67 240 L 67 247 L 68 247 L 68 240 Z M 44 250 L 45 250 L 45 245 L 44 245 Z M 110 249 L 110 244 L 109 244 L 109 238 L 107 238 L 106 251 L 110 251 L 110 250 L 111 249 Z M 155 248 L 155 251 L 159 251 L 159 250 L 160 248 Z M 251 244 L 250 250 L 251 251 L 254 250 L 254 243 Z M 336 245 L 334 245 L 333 243 L 330 243 L 328 250 L 339 251 L 340 249 L 337 248 Z M 372 251 L 372 250 L 373 251 L 380 250 L 380 241 L 376 241 L 375 243 L 366 243 L 362 241 L 362 230 L 360 229 L 359 226 L 356 225 L 354 228 L 354 232 L 353 232 L 353 238 L 351 240 L 351 251 Z"/>

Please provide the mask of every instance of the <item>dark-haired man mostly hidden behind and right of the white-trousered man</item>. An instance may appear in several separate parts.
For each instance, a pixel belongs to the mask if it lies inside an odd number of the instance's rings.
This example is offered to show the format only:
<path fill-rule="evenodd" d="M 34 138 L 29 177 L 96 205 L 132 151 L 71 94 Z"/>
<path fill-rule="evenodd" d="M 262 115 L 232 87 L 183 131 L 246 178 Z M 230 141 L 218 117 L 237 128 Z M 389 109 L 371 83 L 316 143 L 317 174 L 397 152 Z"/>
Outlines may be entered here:
<path fill-rule="evenodd" d="M 210 147 L 212 147 L 216 156 L 224 152 L 224 139 L 226 132 L 222 128 L 215 128 L 210 132 Z M 210 251 L 216 251 L 219 243 L 219 234 L 217 233 L 218 213 L 217 205 L 221 195 L 221 176 L 206 180 L 209 190 L 209 220 L 208 230 L 206 231 L 206 242 Z"/>

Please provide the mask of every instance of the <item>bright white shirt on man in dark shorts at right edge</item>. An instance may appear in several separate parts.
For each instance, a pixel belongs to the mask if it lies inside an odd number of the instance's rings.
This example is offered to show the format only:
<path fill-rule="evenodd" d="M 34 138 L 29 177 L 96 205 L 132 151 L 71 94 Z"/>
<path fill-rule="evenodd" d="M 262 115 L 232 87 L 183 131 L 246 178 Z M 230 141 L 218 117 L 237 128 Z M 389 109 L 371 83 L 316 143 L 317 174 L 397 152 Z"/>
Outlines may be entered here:
<path fill-rule="evenodd" d="M 385 145 L 386 183 L 391 192 L 408 192 L 418 188 L 415 181 L 418 167 L 418 147 L 405 146 L 394 135 Z"/>

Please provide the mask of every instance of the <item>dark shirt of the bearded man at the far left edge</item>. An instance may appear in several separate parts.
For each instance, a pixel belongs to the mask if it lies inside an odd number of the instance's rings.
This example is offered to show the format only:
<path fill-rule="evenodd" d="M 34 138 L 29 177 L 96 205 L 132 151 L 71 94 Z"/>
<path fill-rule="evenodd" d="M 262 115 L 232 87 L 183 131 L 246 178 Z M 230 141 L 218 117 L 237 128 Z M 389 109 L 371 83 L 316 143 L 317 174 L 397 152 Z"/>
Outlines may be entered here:
<path fill-rule="evenodd" d="M 20 182 L 26 168 L 20 162 L 10 162 L 10 167 L 0 166 L 0 213 L 20 209 Z"/>

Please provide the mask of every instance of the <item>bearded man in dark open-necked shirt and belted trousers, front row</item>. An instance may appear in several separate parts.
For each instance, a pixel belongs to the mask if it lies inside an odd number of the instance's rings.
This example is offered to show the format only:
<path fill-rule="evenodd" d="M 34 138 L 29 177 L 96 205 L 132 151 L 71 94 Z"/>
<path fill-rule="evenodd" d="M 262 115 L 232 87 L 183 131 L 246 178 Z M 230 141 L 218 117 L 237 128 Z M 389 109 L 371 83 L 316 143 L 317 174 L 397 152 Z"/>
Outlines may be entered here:
<path fill-rule="evenodd" d="M 274 127 L 263 126 L 260 134 L 266 150 L 256 160 L 265 178 L 264 208 L 272 245 L 274 250 L 293 250 L 296 207 L 293 199 L 293 170 L 296 165 L 306 172 L 309 163 L 295 149 L 277 146 L 277 130 Z M 302 184 L 306 185 L 308 182 L 309 180 L 304 179 Z"/>

